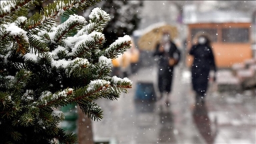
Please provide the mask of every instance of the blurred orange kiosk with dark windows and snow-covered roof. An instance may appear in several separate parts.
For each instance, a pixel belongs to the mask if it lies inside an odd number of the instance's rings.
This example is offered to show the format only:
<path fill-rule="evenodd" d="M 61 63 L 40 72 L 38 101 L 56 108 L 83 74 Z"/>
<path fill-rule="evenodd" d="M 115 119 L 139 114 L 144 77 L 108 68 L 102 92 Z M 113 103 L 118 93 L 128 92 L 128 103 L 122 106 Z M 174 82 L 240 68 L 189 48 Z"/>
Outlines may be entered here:
<path fill-rule="evenodd" d="M 187 25 L 187 49 L 199 31 L 211 36 L 217 67 L 230 68 L 253 57 L 251 15 L 243 11 L 197 11 L 195 5 L 183 9 L 183 22 Z M 187 57 L 187 65 L 191 65 Z"/>

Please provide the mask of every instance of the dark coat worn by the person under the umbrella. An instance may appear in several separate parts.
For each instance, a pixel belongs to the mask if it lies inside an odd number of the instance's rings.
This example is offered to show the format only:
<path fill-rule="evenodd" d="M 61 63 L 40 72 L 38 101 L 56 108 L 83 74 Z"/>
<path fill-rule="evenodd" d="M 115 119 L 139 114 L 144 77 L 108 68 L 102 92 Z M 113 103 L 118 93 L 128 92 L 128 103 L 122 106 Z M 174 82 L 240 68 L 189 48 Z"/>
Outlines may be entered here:
<path fill-rule="evenodd" d="M 169 58 L 174 58 L 175 55 L 177 55 L 177 61 L 179 61 L 181 57 L 181 52 L 179 51 L 179 49 L 177 49 L 175 43 L 173 42 L 171 42 L 169 51 L 160 52 L 158 44 L 155 49 L 155 53 L 153 53 L 153 56 L 159 57 L 158 88 L 160 93 L 163 93 L 163 91 L 171 91 L 171 83 L 173 79 L 173 66 L 169 65 Z"/>

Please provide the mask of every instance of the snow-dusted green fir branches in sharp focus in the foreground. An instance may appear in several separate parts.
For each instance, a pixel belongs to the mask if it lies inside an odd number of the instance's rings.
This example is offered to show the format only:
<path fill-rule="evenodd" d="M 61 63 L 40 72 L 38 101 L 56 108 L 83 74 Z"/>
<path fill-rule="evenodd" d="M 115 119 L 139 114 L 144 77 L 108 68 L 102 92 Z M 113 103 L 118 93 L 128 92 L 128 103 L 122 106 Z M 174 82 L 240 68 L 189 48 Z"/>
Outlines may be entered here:
<path fill-rule="evenodd" d="M 103 47 L 109 14 L 95 8 L 89 21 L 72 14 L 97 2 L 54 1 L 28 17 L 37 1 L 1 1 L 1 143 L 76 143 L 58 127 L 64 119 L 59 107 L 75 103 L 100 120 L 95 100 L 115 100 L 131 88 L 129 79 L 109 77 L 111 59 L 130 47 L 130 37 Z M 59 15 L 69 18 L 57 25 Z"/>

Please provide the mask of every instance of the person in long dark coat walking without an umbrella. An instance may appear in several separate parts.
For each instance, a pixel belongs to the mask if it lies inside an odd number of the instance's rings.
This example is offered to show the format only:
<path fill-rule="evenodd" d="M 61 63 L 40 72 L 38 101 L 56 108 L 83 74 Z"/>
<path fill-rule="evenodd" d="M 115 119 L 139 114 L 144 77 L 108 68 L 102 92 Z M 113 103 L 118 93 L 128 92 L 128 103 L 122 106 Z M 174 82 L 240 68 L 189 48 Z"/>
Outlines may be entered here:
<path fill-rule="evenodd" d="M 211 70 L 217 71 L 211 41 L 204 33 L 196 35 L 197 43 L 189 51 L 193 55 L 193 65 L 191 67 L 192 85 L 196 93 L 196 103 L 204 103 L 207 93 L 209 73 Z M 216 80 L 214 75 L 213 81 Z"/>

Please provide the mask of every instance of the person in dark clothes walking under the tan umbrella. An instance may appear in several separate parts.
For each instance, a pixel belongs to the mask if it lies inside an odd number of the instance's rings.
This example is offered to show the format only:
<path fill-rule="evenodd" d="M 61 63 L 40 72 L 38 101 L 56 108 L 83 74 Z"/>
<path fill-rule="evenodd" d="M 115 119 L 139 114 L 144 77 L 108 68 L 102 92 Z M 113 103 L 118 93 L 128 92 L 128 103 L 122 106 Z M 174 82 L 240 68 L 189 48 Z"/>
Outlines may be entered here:
<path fill-rule="evenodd" d="M 161 99 L 164 93 L 167 93 L 165 105 L 169 106 L 169 95 L 171 93 L 171 83 L 173 80 L 173 67 L 177 65 L 181 57 L 179 49 L 171 41 L 169 33 L 163 33 L 161 42 L 157 44 L 153 56 L 159 57 L 158 67 L 158 88 Z"/>

